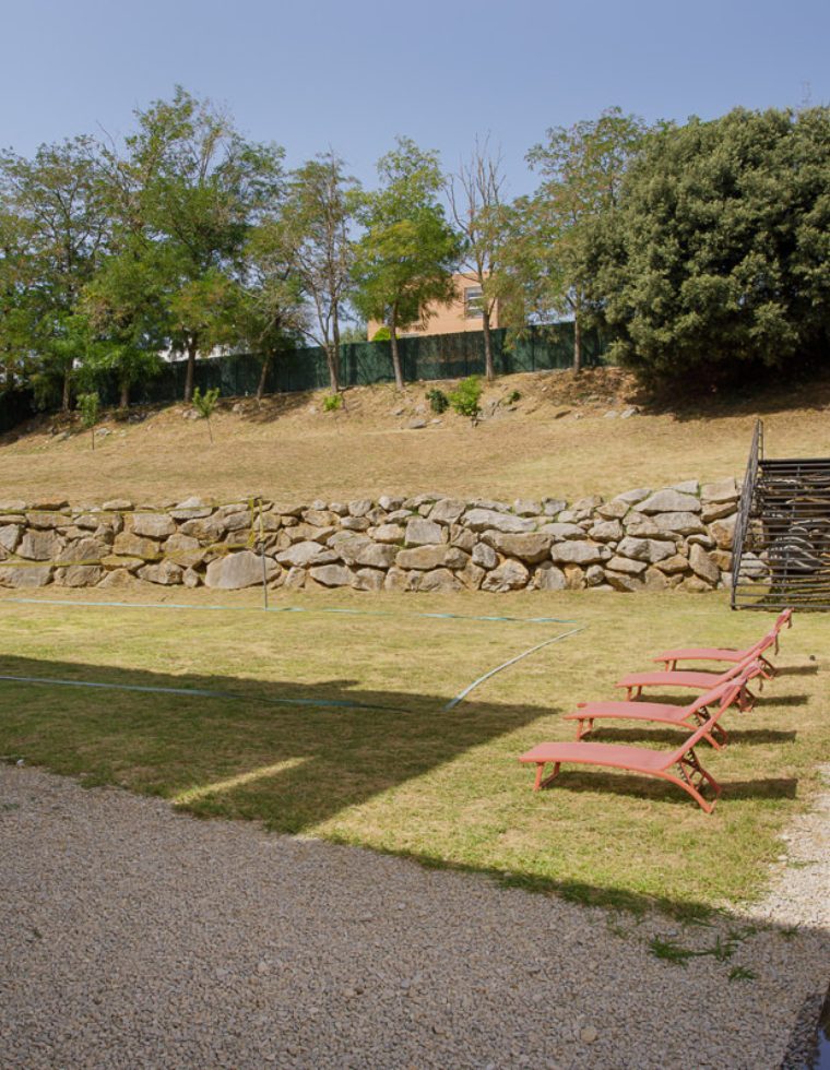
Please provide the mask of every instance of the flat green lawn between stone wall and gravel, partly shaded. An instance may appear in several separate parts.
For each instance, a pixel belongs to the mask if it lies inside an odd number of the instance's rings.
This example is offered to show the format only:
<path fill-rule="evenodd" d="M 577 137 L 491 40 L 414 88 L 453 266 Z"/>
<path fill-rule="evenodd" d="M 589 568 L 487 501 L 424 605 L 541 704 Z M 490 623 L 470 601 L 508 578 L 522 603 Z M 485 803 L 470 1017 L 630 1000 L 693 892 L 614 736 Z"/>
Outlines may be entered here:
<path fill-rule="evenodd" d="M 781 853 L 776 837 L 809 804 L 828 753 L 828 616 L 796 618 L 756 711 L 727 716 L 724 751 L 701 747 L 724 788 L 707 816 L 671 785 L 600 770 L 566 768 L 534 794 L 532 772 L 515 759 L 536 742 L 572 738 L 561 714 L 581 699 L 622 697 L 615 679 L 649 667 L 662 647 L 743 645 L 769 615 L 731 614 L 721 594 L 589 592 L 281 594 L 275 605 L 309 611 L 270 615 L 242 594 L 224 595 L 226 609 L 198 608 L 217 599 L 177 592 L 192 610 L 0 599 L 4 675 L 222 692 L 0 681 L 0 756 L 161 795 L 202 816 L 507 873 L 592 902 L 693 911 L 762 890 Z M 371 613 L 320 611 L 331 607 Z M 585 630 L 447 712 L 483 673 L 573 626 L 418 616 L 434 611 L 552 616 Z M 681 736 L 617 723 L 595 738 L 672 748 Z"/>

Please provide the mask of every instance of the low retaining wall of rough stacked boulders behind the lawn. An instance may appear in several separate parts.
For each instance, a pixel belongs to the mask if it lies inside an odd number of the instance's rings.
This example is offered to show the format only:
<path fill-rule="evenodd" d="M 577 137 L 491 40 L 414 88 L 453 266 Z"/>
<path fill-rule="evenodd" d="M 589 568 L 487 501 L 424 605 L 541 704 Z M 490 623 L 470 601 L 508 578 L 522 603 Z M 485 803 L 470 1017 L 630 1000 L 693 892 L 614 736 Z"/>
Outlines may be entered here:
<path fill-rule="evenodd" d="M 436 494 L 310 504 L 189 498 L 0 502 L 0 585 L 225 590 L 566 587 L 701 592 L 731 582 L 734 479 L 570 506 Z"/>

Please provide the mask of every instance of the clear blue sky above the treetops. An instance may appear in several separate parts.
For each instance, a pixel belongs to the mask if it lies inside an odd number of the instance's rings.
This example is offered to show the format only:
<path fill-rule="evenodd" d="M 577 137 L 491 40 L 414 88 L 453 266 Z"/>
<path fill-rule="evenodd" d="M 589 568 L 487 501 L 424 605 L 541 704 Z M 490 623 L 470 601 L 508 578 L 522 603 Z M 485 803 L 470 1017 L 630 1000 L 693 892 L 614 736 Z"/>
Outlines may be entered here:
<path fill-rule="evenodd" d="M 552 126 L 830 103 L 828 0 L 2 0 L 0 145 L 124 133 L 178 82 L 294 165 L 372 182 L 398 133 L 446 167 L 476 132 L 512 193 Z"/>

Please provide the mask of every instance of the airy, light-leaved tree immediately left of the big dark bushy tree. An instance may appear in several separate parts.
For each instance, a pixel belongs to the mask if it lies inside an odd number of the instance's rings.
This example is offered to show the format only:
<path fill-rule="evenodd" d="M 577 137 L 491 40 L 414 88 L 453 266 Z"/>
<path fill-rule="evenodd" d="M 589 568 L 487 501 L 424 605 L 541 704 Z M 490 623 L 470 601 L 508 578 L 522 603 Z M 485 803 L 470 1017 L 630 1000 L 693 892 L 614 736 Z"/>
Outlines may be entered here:
<path fill-rule="evenodd" d="M 518 203 L 513 265 L 531 314 L 573 319 L 574 371 L 582 367 L 582 326 L 591 311 L 595 228 L 616 203 L 644 130 L 641 119 L 609 108 L 598 119 L 553 127 L 527 153 L 542 182 Z"/>

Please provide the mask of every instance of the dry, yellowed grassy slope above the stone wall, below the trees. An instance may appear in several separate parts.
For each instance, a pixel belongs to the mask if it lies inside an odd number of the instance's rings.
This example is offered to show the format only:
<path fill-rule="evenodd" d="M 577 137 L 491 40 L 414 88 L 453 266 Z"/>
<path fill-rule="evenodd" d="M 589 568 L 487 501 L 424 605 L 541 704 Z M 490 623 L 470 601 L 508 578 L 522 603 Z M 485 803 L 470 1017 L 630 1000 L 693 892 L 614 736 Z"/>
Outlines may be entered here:
<path fill-rule="evenodd" d="M 390 385 L 357 388 L 336 413 L 323 412 L 322 394 L 274 396 L 261 406 L 226 399 L 212 420 L 213 444 L 181 405 L 137 412 L 134 423 L 105 417 L 95 452 L 76 421 L 42 418 L 0 439 L 0 494 L 73 502 L 247 492 L 334 500 L 420 490 L 573 499 L 737 475 L 759 415 L 769 455 L 830 454 L 830 380 L 659 406 L 617 369 L 578 380 L 570 372 L 517 374 L 485 392 L 477 427 L 430 412 L 426 391 L 434 385 L 403 394 Z M 630 406 L 637 414 L 621 418 Z M 417 421 L 426 426 L 412 428 Z"/>

